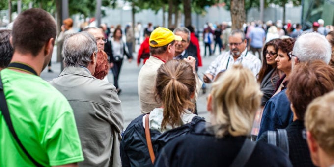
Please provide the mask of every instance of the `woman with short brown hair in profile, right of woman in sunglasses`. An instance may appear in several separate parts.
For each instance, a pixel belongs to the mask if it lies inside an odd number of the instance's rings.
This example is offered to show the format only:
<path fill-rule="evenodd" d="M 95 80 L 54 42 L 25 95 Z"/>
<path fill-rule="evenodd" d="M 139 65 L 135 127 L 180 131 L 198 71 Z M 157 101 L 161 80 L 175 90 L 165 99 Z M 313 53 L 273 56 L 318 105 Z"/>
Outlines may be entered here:
<path fill-rule="evenodd" d="M 291 55 L 289 53 L 292 51 L 295 41 L 293 38 L 285 38 L 278 45 L 278 56 L 275 61 L 277 62 L 277 69 L 283 71 L 284 75 L 278 80 L 273 96 L 286 88 L 287 79 L 292 69 Z"/>

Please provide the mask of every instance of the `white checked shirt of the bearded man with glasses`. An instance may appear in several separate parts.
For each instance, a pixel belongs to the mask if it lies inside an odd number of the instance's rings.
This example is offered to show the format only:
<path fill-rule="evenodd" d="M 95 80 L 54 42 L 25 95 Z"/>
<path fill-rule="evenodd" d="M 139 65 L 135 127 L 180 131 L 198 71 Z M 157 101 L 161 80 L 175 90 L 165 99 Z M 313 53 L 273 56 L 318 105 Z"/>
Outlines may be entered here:
<path fill-rule="evenodd" d="M 222 70 L 232 68 L 234 64 L 242 64 L 244 67 L 249 68 L 254 76 L 256 76 L 261 69 L 261 60 L 245 49 L 235 61 L 230 52 L 219 55 L 211 62 L 205 73 L 209 73 L 215 77 Z"/>

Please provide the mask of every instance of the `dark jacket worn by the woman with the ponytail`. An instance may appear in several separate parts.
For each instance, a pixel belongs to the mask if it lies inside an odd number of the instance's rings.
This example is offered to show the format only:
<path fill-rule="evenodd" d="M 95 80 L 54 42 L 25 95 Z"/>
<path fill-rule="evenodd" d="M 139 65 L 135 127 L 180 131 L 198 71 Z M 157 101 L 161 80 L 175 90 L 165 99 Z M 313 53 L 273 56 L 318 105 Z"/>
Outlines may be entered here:
<path fill-rule="evenodd" d="M 134 119 L 124 132 L 120 145 L 122 167 L 153 167 L 146 144 L 143 116 L 144 114 Z M 204 118 L 195 116 L 191 123 L 171 129 L 163 134 L 157 130 L 150 130 L 155 156 L 171 139 L 203 129 L 205 129 Z"/>

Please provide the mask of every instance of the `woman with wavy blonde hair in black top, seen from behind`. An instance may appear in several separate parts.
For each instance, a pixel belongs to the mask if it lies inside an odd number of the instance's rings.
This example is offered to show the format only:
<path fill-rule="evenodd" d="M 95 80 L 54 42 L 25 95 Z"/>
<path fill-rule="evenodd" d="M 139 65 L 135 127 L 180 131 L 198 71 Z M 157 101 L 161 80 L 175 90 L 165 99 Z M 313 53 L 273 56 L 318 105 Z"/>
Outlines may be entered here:
<path fill-rule="evenodd" d="M 251 70 L 241 65 L 226 70 L 213 83 L 208 97 L 207 110 L 212 125 L 168 142 L 155 166 L 291 167 L 287 155 L 280 149 L 247 139 L 255 113 L 260 108 L 261 96 L 260 86 Z M 249 146 L 253 149 L 248 149 Z M 241 158 L 245 156 L 238 154 L 246 155 L 245 150 L 251 150 L 249 157 Z"/>

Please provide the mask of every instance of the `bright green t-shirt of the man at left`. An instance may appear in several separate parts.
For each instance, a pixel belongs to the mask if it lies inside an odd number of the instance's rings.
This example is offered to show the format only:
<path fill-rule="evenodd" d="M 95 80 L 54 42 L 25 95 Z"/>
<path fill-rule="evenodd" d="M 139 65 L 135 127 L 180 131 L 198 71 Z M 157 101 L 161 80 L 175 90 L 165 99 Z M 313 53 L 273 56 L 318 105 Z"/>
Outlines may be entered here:
<path fill-rule="evenodd" d="M 9 113 L 18 138 L 44 166 L 83 161 L 73 110 L 56 88 L 40 77 L 1 71 Z M 0 167 L 34 166 L 10 133 L 0 112 Z"/>

